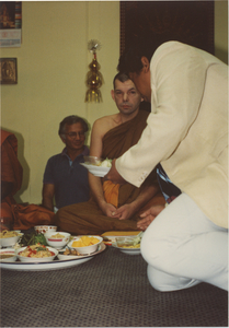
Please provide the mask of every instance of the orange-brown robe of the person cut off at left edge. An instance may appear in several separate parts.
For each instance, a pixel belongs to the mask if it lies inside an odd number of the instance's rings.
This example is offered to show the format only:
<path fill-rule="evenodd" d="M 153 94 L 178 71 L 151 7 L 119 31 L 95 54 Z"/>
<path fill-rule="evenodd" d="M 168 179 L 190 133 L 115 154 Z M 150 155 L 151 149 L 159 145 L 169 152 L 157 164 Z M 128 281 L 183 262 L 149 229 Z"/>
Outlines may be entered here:
<path fill-rule="evenodd" d="M 36 204 L 18 204 L 13 196 L 21 189 L 23 168 L 18 160 L 18 139 L 13 133 L 1 130 L 1 199 L 0 213 L 4 218 L 1 230 L 28 230 L 38 224 L 53 224 L 54 212 Z M 4 183 L 11 191 L 4 195 Z"/>

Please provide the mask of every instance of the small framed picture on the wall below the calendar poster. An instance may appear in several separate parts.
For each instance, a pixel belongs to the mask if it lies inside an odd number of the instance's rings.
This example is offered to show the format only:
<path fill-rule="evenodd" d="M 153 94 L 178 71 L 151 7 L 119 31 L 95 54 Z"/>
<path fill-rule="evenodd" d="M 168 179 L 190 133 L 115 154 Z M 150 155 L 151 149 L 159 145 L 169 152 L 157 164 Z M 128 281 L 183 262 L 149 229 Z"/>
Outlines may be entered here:
<path fill-rule="evenodd" d="M 0 84 L 18 83 L 16 58 L 0 58 Z"/>

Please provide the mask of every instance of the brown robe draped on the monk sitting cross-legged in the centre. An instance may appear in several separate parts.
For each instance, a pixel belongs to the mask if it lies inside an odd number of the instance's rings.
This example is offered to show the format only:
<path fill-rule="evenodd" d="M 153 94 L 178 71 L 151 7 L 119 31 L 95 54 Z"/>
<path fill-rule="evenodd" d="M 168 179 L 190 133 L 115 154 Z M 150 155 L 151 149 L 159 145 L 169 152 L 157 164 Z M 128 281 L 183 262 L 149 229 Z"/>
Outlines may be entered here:
<path fill-rule="evenodd" d="M 149 113 L 140 110 L 135 118 L 111 129 L 103 137 L 103 159 L 116 159 L 136 144 L 146 127 Z M 157 173 L 153 171 L 140 188 L 130 184 L 122 185 L 118 188 L 118 208 L 125 203 L 133 202 L 146 185 L 158 184 Z M 116 188 L 115 188 L 116 189 Z M 116 190 L 115 190 L 116 192 Z M 112 197 L 111 197 L 112 198 Z M 158 192 L 142 209 L 141 212 L 152 204 L 164 203 L 161 192 Z M 71 234 L 102 234 L 107 231 L 138 231 L 137 221 L 139 212 L 128 220 L 118 220 L 104 215 L 93 198 L 61 208 L 56 213 L 56 225 L 59 231 Z"/>

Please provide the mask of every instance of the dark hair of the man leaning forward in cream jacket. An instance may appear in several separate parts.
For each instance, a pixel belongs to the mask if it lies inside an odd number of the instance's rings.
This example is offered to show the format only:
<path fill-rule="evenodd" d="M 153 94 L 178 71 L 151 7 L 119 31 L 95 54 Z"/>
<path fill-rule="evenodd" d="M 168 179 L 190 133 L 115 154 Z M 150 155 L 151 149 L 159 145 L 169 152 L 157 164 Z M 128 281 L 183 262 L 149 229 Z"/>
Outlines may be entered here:
<path fill-rule="evenodd" d="M 154 43 L 153 45 L 147 45 L 147 47 L 142 45 L 129 47 L 119 57 L 117 70 L 119 72 L 125 72 L 127 75 L 129 73 L 139 74 L 141 69 L 144 68 L 141 62 L 141 57 L 147 57 L 147 59 L 150 62 L 152 55 L 154 54 L 154 50 L 158 48 L 160 44 Z"/>

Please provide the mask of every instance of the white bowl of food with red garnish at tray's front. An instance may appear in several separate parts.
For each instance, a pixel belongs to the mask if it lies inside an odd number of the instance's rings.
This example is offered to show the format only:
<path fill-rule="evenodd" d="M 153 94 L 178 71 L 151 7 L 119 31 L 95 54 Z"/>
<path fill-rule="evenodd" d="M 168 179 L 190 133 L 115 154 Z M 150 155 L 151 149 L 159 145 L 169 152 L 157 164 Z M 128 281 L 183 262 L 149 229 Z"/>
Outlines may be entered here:
<path fill-rule="evenodd" d="M 58 255 L 58 250 L 44 245 L 31 245 L 15 250 L 22 262 L 49 262 Z"/>

